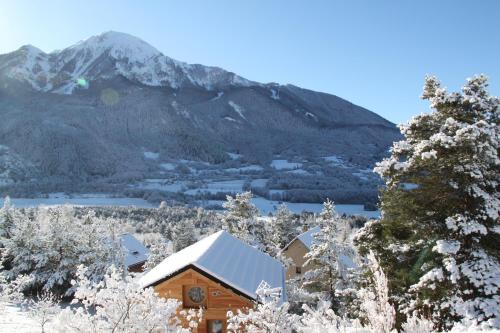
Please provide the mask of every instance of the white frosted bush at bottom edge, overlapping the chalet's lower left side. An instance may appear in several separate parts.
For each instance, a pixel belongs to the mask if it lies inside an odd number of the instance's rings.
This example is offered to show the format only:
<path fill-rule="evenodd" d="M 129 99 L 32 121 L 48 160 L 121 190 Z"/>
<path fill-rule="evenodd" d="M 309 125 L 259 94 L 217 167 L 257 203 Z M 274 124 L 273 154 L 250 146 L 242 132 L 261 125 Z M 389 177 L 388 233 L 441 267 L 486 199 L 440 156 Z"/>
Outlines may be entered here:
<path fill-rule="evenodd" d="M 178 309 L 181 302 L 159 297 L 153 288 L 142 288 L 136 278 L 123 276 L 112 267 L 103 281 L 95 283 L 80 267 L 74 304 L 59 315 L 59 328 L 64 332 L 190 332 L 183 328 Z M 190 327 L 195 327 L 201 312 L 184 313 Z"/>

